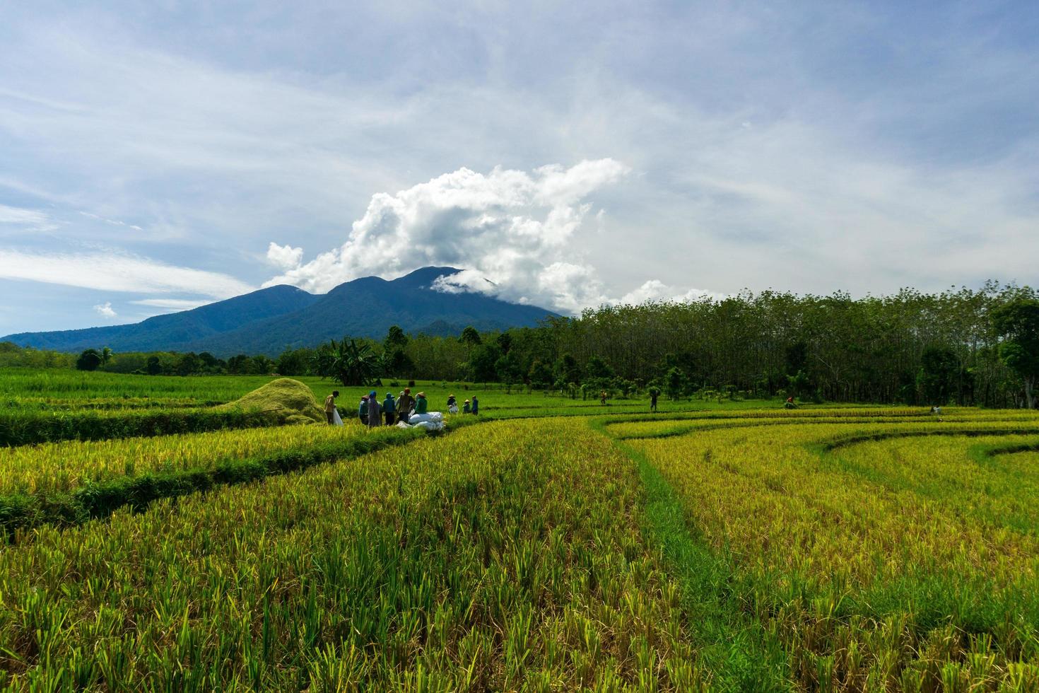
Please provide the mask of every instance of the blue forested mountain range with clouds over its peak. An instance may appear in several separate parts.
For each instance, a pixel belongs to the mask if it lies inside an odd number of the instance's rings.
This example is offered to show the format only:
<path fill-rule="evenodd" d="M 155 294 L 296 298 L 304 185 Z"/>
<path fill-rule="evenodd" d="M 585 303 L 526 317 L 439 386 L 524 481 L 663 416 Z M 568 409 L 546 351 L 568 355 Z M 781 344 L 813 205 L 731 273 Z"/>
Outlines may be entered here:
<path fill-rule="evenodd" d="M 317 296 L 295 287 L 270 287 L 130 325 L 21 332 L 0 341 L 73 352 L 108 346 L 116 352 L 276 355 L 286 347 L 316 346 L 344 336 L 381 338 L 391 325 L 400 325 L 406 332 L 447 336 L 467 325 L 505 329 L 534 325 L 556 315 L 479 293 L 442 293 L 430 288 L 437 277 L 457 271 L 424 267 L 393 281 L 366 276 Z"/>

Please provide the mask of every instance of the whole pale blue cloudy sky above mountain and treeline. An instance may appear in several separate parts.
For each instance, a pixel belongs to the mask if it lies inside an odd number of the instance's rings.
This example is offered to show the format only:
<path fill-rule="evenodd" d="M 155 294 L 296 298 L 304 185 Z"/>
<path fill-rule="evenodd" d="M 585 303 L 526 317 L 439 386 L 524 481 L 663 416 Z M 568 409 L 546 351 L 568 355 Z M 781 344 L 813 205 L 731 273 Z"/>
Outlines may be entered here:
<path fill-rule="evenodd" d="M 1033 0 L 0 3 L 0 335 L 1036 286 L 1037 104 Z"/>

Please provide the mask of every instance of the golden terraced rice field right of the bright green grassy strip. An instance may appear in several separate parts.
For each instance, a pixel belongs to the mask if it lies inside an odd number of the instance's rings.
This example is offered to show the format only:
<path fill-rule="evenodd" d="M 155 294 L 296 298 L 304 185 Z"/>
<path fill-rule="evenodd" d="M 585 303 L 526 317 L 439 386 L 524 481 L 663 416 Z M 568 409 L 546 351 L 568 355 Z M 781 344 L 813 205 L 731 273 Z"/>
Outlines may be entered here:
<path fill-rule="evenodd" d="M 942 419 L 609 429 L 673 487 L 793 685 L 1039 690 L 1039 418 Z"/>

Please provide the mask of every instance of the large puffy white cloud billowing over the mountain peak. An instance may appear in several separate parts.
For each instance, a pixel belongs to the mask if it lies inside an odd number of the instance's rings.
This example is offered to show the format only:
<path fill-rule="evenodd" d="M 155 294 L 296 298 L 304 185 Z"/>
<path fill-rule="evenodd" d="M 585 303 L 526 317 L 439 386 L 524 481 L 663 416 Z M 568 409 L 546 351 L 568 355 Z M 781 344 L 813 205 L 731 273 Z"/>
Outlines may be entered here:
<path fill-rule="evenodd" d="M 436 288 L 443 291 L 481 291 L 575 312 L 605 296 L 571 237 L 591 211 L 587 197 L 628 171 L 613 159 L 532 172 L 459 168 L 394 195 L 379 193 L 341 247 L 309 263 L 299 264 L 301 248 L 271 243 L 268 260 L 298 266 L 265 286 L 320 293 L 358 276 L 449 265 L 464 271 L 442 279 Z"/>

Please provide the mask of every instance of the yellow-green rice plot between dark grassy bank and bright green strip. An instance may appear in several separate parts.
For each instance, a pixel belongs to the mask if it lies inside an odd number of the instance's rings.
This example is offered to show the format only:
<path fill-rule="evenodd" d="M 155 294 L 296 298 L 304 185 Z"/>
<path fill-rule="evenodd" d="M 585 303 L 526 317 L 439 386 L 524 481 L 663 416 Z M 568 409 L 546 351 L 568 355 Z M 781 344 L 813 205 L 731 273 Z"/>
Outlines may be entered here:
<path fill-rule="evenodd" d="M 0 552 L 11 690 L 707 690 L 638 471 L 470 426 Z"/>

